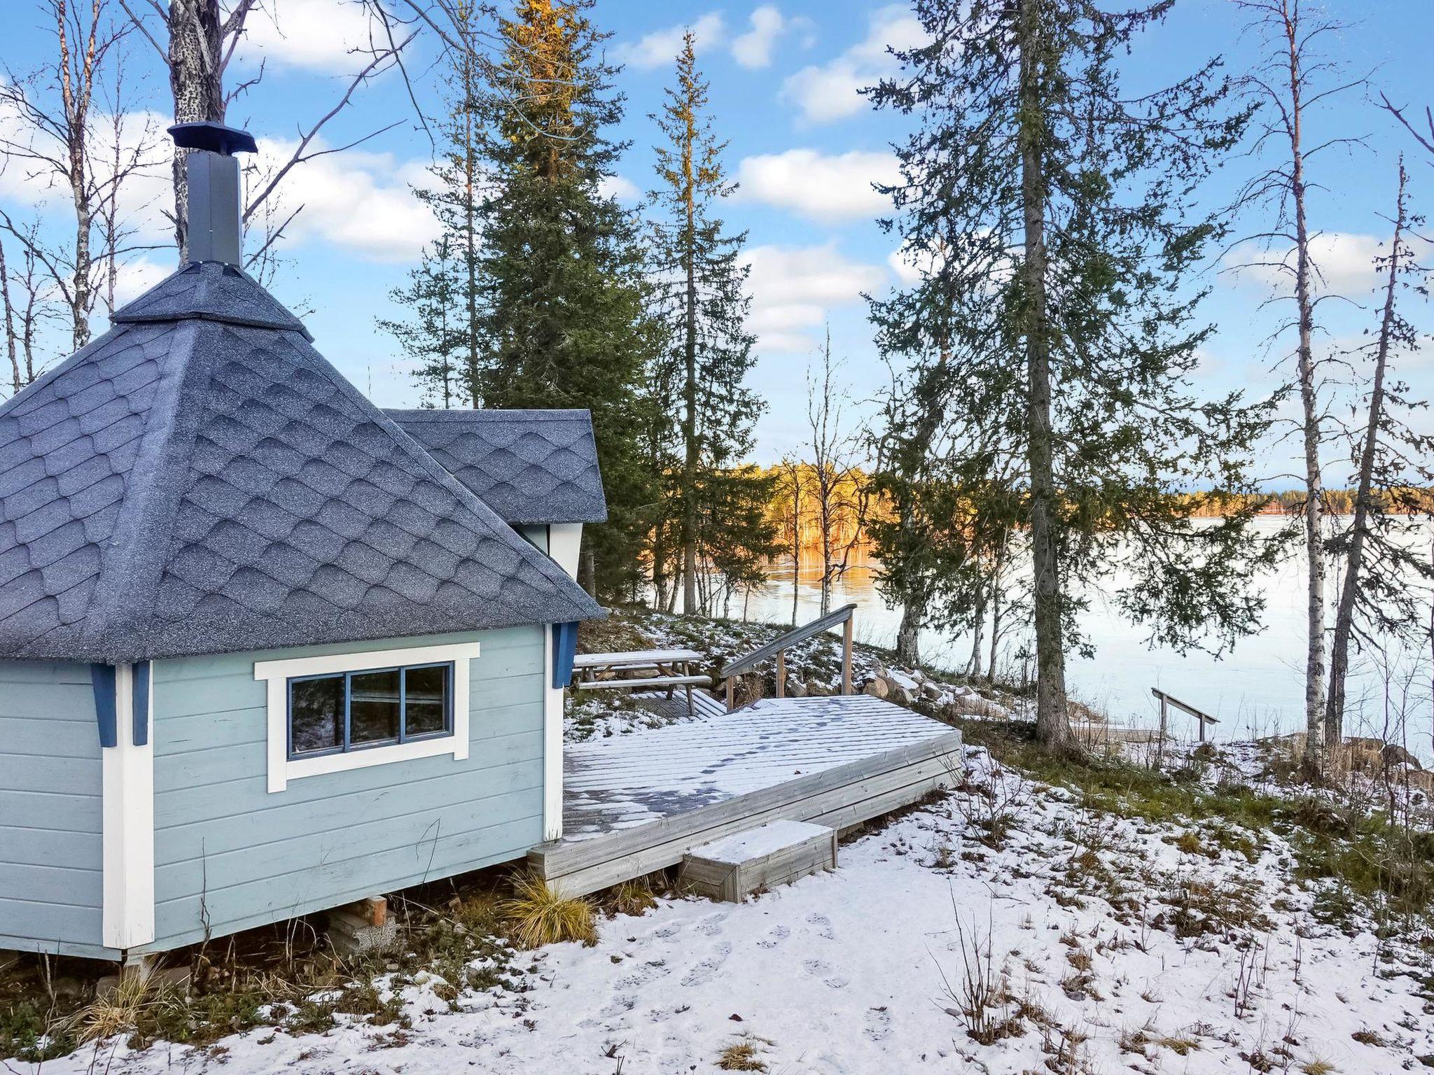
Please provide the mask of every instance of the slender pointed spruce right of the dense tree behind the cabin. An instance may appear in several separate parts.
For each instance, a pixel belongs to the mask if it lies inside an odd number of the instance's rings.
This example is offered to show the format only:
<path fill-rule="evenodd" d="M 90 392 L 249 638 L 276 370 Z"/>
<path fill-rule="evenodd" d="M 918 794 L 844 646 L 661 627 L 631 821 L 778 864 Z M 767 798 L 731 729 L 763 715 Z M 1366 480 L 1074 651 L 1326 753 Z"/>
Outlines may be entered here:
<path fill-rule="evenodd" d="M 665 143 L 655 148 L 660 182 L 651 194 L 661 215 L 652 228 L 651 272 L 668 341 L 657 380 L 675 396 L 674 444 L 664 466 L 664 503 L 677 520 L 668 555 L 675 553 L 687 612 L 707 603 L 698 595 L 703 546 L 713 555 L 720 550 L 737 569 L 750 565 L 754 552 L 766 555 L 774 536 L 764 513 L 728 510 L 763 499 L 770 482 L 736 466 L 751 449 L 764 404 L 743 384 L 756 361 L 746 328 L 747 267 L 739 259 L 747 234 L 728 235 L 716 215 L 737 185 L 723 169 L 727 143 L 713 133 L 708 103 L 688 32 L 677 56 L 677 83 L 652 116 Z M 665 565 L 658 570 L 665 575 Z"/>

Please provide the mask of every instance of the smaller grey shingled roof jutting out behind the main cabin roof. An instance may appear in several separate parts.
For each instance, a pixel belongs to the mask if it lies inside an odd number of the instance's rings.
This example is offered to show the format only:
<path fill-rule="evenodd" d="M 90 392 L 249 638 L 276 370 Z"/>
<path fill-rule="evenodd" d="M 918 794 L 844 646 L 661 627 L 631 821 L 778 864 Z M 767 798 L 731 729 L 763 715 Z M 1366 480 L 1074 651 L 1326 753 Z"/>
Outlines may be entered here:
<path fill-rule="evenodd" d="M 389 417 L 511 523 L 608 517 L 585 410 L 390 410 Z"/>

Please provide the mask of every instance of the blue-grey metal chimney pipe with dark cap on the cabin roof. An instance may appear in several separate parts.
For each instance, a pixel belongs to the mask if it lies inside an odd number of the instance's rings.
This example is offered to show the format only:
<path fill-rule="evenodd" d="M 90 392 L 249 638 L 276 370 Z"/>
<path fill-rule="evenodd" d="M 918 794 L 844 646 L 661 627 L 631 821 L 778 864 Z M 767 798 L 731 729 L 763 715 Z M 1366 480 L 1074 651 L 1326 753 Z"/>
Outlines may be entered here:
<path fill-rule="evenodd" d="M 244 265 L 244 221 L 239 212 L 239 162 L 234 153 L 257 153 L 254 136 L 224 123 L 175 123 L 169 135 L 181 149 L 189 181 L 186 236 L 189 261 Z"/>

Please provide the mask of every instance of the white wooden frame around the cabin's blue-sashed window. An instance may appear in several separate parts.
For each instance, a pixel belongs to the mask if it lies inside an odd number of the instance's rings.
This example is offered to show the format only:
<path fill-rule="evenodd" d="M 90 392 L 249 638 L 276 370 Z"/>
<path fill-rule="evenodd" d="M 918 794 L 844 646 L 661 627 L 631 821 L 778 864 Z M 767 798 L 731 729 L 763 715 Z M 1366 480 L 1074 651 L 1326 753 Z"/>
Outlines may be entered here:
<path fill-rule="evenodd" d="M 346 773 L 391 761 L 436 758 L 452 755 L 455 761 L 467 758 L 469 745 L 469 661 L 479 654 L 478 642 L 456 645 L 413 646 L 412 649 L 370 649 L 363 654 L 331 654 L 328 656 L 294 656 L 281 661 L 255 661 L 254 678 L 268 684 L 268 790 L 282 791 L 288 781 L 317 777 L 324 773 Z M 366 668 L 394 665 L 426 665 L 453 662 L 453 734 L 391 747 L 369 747 L 347 754 L 324 754 L 318 758 L 288 758 L 288 681 L 295 675 L 327 675 L 358 672 Z"/>

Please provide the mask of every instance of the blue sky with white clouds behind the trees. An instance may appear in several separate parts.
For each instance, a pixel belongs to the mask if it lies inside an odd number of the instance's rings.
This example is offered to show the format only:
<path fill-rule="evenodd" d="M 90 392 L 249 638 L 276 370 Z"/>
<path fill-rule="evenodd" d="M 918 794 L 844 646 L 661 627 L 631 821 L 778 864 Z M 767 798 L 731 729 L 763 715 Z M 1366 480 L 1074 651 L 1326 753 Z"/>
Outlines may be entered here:
<path fill-rule="evenodd" d="M 29 16 L 22 13 L 27 7 Z M 341 92 L 357 66 L 344 52 L 346 40 L 363 27 L 357 10 L 344 0 L 271 0 L 268 9 L 271 17 L 255 19 L 234 72 L 245 77 L 264 57 L 264 79 L 232 106 L 229 120 L 248 126 L 261 146 L 277 155 Z M 1338 0 L 1328 9 L 1358 20 L 1331 42 L 1349 75 L 1372 73 L 1375 89 L 1397 103 L 1421 109 L 1434 102 L 1423 47 L 1434 34 L 1434 4 Z M 37 7 L 24 0 L 11 0 L 6 14 L 13 32 L 0 43 L 0 60 L 23 73 L 42 62 L 46 32 Z M 850 0 L 760 6 L 599 0 L 594 17 L 614 34 L 609 56 L 625 64 L 618 86 L 627 95 L 627 118 L 618 135 L 631 139 L 632 149 L 614 178 L 624 196 L 651 183 L 654 126 L 647 115 L 658 108 L 671 77 L 683 27 L 698 33 L 717 128 L 730 139 L 727 165 L 741 182 L 727 219 L 733 228 L 747 229 L 753 262 L 753 327 L 760 337 L 753 384 L 771 404 L 759 424 L 757 459 L 770 462 L 800 450 L 803 376 L 826 318 L 835 348 L 846 358 L 850 420 L 859 423 L 863 400 L 886 377 L 870 343 L 860 292 L 883 292 L 899 282 L 893 242 L 875 224 L 882 202 L 869 183 L 891 172 L 889 143 L 901 125 L 873 113 L 855 87 L 889 70 L 888 44 L 913 39 L 908 9 Z M 419 44 L 427 49 L 422 40 Z M 1230 0 L 1180 0 L 1164 26 L 1137 40 L 1130 73 L 1134 85 L 1154 85 L 1216 53 L 1239 72 L 1255 52 L 1256 42 L 1242 33 L 1242 16 Z M 420 49 L 412 62 L 420 102 L 436 112 L 436 79 L 432 70 L 424 73 L 430 60 L 432 49 Z M 151 109 L 152 122 L 165 119 L 168 86 L 158 57 L 142 42 L 130 47 L 130 110 Z M 305 311 L 320 350 L 377 403 L 413 406 L 419 397 L 406 363 L 374 321 L 396 312 L 389 292 L 403 282 L 432 231 L 407 191 L 410 182 L 422 181 L 429 145 L 394 76 L 361 89 L 354 106 L 326 128 L 324 139 L 343 145 L 387 123 L 397 126 L 357 150 L 321 158 L 291 175 L 284 206 L 303 209 L 284 245 L 287 264 L 274 290 Z M 1331 285 L 1368 305 L 1374 282 L 1368 259 L 1387 232 L 1382 214 L 1392 201 L 1395 155 L 1401 149 L 1410 155 L 1417 206 L 1434 205 L 1434 168 L 1362 90 L 1334 100 L 1312 118 L 1312 128 L 1315 139 L 1361 135 L 1368 142 L 1367 148 L 1329 152 L 1312 165 L 1319 185 L 1312 196 L 1314 224 L 1324 232 L 1319 251 Z M 1228 192 L 1258 166 L 1252 158 L 1232 159 L 1212 196 Z M 132 199 L 146 234 L 162 239 L 155 208 L 165 199 L 163 175 L 139 185 Z M 46 201 L 34 182 L 14 169 L 0 175 L 0 202 L 52 221 L 63 218 L 57 198 Z M 1246 228 L 1255 231 L 1260 224 L 1250 216 Z M 126 272 L 128 290 L 168 271 L 168 257 L 161 249 L 139 258 Z M 1268 285 L 1252 274 L 1236 278 L 1213 265 L 1207 281 L 1213 294 L 1205 315 L 1219 331 L 1206 348 L 1203 386 L 1210 391 L 1268 390 L 1273 383 L 1269 367 L 1288 350 L 1268 341 L 1281 317 L 1278 310 L 1262 307 Z M 1369 310 L 1326 304 L 1325 311 L 1328 347 L 1357 338 L 1372 322 Z M 1424 305 L 1411 305 L 1408 312 L 1430 321 Z M 1414 396 L 1430 396 L 1434 360 L 1415 357 L 1402 373 Z M 1271 454 L 1272 479 L 1283 470 L 1283 454 L 1282 449 Z"/>

